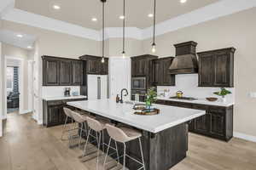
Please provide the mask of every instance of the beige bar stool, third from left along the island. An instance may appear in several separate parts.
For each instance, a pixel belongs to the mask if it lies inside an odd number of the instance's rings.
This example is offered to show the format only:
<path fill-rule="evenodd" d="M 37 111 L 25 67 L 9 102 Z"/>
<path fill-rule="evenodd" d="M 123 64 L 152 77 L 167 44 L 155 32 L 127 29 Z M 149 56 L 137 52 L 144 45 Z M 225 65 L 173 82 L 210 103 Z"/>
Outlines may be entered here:
<path fill-rule="evenodd" d="M 101 119 L 96 119 L 92 118 L 90 116 L 87 117 L 87 124 L 89 127 L 89 132 L 87 135 L 86 143 L 84 145 L 84 155 L 86 156 L 86 148 L 89 142 L 89 137 L 95 137 L 91 135 L 91 131 L 93 130 L 96 133 L 96 141 L 97 141 L 97 160 L 96 160 L 96 170 L 98 169 L 98 164 L 99 164 L 99 157 L 100 157 L 100 146 L 101 146 L 101 140 L 102 140 L 102 150 L 104 150 L 104 133 L 103 130 L 106 129 L 106 124 L 109 122 L 101 120 Z"/>

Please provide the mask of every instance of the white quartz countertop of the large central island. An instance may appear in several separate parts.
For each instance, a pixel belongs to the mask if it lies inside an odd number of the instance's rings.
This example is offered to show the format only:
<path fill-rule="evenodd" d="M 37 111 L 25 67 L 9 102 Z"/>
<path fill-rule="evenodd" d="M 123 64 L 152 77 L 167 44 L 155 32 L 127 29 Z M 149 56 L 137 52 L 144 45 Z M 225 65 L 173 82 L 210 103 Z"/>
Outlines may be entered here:
<path fill-rule="evenodd" d="M 206 111 L 169 105 L 153 105 L 160 109 L 159 115 L 139 116 L 134 114 L 133 105 L 125 103 L 117 104 L 110 99 L 74 101 L 67 102 L 67 105 L 84 111 L 90 111 L 96 115 L 104 116 L 117 122 L 123 122 L 151 133 L 159 133 L 162 130 L 206 114 Z"/>

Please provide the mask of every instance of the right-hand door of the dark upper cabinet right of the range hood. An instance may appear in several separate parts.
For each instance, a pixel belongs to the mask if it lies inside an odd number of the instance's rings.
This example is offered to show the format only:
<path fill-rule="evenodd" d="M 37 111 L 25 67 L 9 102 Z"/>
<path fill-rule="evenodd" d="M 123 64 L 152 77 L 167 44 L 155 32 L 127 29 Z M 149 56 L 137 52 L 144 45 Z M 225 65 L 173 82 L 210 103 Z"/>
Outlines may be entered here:
<path fill-rule="evenodd" d="M 214 86 L 230 87 L 230 56 L 226 52 L 218 52 L 214 56 Z"/>

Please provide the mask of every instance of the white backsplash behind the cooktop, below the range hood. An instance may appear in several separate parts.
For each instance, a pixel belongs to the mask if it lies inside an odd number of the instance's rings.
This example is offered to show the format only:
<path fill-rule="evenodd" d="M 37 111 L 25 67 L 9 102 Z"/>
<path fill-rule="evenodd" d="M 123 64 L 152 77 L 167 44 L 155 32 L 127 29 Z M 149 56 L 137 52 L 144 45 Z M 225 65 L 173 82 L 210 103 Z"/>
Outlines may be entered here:
<path fill-rule="evenodd" d="M 167 89 L 170 92 L 166 97 L 175 96 L 176 92 L 181 90 L 183 91 L 183 96 L 185 97 L 194 97 L 198 99 L 204 99 L 206 97 L 217 97 L 219 96 L 212 94 L 213 92 L 218 92 L 220 88 L 201 88 L 198 87 L 198 74 L 182 74 L 176 75 L 176 86 L 159 86 L 157 87 L 158 94 L 163 93 L 163 91 Z M 235 88 L 227 88 L 232 92 L 226 96 L 227 99 L 233 100 L 235 99 Z"/>

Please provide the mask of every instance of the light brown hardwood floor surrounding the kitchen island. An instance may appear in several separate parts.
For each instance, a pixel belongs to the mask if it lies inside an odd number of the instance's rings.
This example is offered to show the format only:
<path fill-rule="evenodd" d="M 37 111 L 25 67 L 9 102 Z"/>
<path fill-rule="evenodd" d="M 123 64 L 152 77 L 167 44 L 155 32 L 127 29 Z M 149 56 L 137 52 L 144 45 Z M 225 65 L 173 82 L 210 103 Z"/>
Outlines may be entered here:
<path fill-rule="evenodd" d="M 8 115 L 0 138 L 1 170 L 90 170 L 95 160 L 81 162 L 81 150 L 61 141 L 61 126 L 38 126 L 30 114 Z M 225 143 L 189 134 L 187 158 L 172 170 L 255 170 L 256 143 L 231 139 Z"/>

